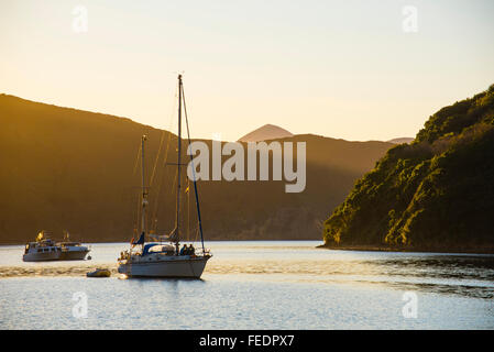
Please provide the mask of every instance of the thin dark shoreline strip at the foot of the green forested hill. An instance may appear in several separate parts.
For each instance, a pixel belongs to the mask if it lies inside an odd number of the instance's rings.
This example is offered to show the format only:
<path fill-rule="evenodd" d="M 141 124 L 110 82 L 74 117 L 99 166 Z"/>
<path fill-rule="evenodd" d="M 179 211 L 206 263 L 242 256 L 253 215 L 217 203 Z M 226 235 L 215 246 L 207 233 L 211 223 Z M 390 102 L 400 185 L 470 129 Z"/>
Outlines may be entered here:
<path fill-rule="evenodd" d="M 321 244 L 317 249 L 333 250 L 333 251 L 355 251 L 355 252 L 406 252 L 406 253 L 452 253 L 452 254 L 494 254 L 494 248 L 404 248 L 404 246 L 387 246 L 376 244 L 348 244 L 348 245 L 328 245 Z"/>

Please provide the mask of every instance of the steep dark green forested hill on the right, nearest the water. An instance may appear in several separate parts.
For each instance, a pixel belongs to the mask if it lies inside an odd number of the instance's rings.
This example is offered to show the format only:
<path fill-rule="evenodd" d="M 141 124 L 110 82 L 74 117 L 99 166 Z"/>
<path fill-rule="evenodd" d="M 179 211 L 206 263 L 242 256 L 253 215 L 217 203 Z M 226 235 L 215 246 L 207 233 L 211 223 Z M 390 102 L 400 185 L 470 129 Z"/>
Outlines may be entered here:
<path fill-rule="evenodd" d="M 494 249 L 494 85 L 391 148 L 323 226 L 328 246 Z"/>

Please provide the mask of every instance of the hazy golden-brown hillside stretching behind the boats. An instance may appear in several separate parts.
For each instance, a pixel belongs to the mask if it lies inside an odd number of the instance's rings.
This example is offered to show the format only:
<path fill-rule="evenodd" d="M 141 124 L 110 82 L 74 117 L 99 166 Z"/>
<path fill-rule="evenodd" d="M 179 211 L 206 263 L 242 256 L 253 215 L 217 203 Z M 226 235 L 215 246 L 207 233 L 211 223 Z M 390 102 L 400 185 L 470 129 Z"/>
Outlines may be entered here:
<path fill-rule="evenodd" d="M 175 134 L 8 95 L 0 95 L 0 243 L 34 240 L 40 230 L 61 238 L 64 229 L 73 239 L 129 241 L 139 219 L 142 134 L 147 135 L 149 228 L 158 234 L 174 228 L 176 168 L 165 165 L 177 162 Z M 200 134 L 194 123 L 190 128 Z M 320 239 L 326 211 L 393 146 L 310 134 L 284 140 L 307 143 L 305 191 L 286 194 L 285 180 L 201 180 L 207 240 Z M 190 194 L 183 196 L 182 228 L 186 238 L 196 238 Z"/>

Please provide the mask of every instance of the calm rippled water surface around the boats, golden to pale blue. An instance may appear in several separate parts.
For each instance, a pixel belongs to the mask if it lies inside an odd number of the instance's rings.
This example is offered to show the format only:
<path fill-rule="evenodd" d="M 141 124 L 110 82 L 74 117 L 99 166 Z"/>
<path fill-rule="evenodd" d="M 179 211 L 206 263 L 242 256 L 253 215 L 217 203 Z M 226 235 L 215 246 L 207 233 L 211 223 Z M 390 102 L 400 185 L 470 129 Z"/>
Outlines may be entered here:
<path fill-rule="evenodd" d="M 215 256 L 200 280 L 120 277 L 127 243 L 51 263 L 23 263 L 23 246 L 0 246 L 0 329 L 494 329 L 493 255 L 318 244 L 209 242 Z M 87 278 L 97 266 L 112 277 Z M 403 312 L 408 292 L 416 318 Z M 86 318 L 73 315 L 77 293 Z"/>

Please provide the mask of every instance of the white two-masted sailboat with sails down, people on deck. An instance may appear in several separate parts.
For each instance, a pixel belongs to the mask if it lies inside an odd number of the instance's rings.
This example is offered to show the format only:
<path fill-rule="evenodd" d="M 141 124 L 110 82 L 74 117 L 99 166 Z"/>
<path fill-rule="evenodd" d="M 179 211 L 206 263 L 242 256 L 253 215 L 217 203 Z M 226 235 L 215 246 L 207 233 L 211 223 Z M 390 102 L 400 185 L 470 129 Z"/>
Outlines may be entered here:
<path fill-rule="evenodd" d="M 183 107 L 184 106 L 184 107 Z M 142 211 L 141 211 L 141 235 L 138 241 L 131 241 L 129 251 L 122 252 L 118 260 L 118 272 L 128 277 L 176 277 L 176 278 L 200 278 L 206 267 L 206 263 L 212 256 L 209 250 L 205 249 L 202 223 L 200 218 L 199 196 L 197 193 L 196 178 L 194 177 L 194 190 L 196 198 L 198 228 L 201 240 L 201 249 L 193 249 L 191 245 L 180 251 L 180 172 L 182 172 L 182 110 L 184 109 L 187 123 L 187 138 L 190 145 L 190 135 L 188 135 L 187 109 L 185 106 L 184 87 L 182 75 L 178 75 L 178 139 L 177 139 L 177 199 L 175 228 L 164 241 L 146 242 L 146 207 L 147 188 L 144 178 L 144 146 L 146 136 L 141 139 L 141 166 L 142 166 Z M 191 156 L 190 162 L 193 163 Z M 193 170 L 194 170 L 194 165 Z M 135 250 L 138 248 L 138 250 Z M 193 250 L 190 250 L 193 249 Z"/>

